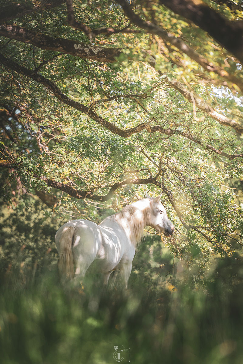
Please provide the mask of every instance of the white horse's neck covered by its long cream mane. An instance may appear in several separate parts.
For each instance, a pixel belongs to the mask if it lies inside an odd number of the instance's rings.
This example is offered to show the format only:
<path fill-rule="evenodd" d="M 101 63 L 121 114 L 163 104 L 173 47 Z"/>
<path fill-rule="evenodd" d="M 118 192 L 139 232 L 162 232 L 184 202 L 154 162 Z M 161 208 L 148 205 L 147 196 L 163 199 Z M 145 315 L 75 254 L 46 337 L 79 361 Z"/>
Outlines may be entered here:
<path fill-rule="evenodd" d="M 123 227 L 136 247 L 144 234 L 144 227 L 148 225 L 150 220 L 150 211 L 149 199 L 143 199 L 125 206 L 110 218 Z"/>

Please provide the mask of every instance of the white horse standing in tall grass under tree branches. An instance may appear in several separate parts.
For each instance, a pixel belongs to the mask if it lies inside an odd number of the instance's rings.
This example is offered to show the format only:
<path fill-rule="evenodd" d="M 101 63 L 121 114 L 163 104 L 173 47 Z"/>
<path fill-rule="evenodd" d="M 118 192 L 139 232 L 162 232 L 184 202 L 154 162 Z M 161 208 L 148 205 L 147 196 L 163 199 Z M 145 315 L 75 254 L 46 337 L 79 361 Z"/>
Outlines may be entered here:
<path fill-rule="evenodd" d="M 161 195 L 155 198 L 146 195 L 99 225 L 89 220 L 72 220 L 60 227 L 55 236 L 60 273 L 80 281 L 96 261 L 95 268 L 103 274 L 105 284 L 110 274 L 119 269 L 127 288 L 136 245 L 144 227 L 152 226 L 166 237 L 174 233 L 175 227 L 160 202 Z"/>

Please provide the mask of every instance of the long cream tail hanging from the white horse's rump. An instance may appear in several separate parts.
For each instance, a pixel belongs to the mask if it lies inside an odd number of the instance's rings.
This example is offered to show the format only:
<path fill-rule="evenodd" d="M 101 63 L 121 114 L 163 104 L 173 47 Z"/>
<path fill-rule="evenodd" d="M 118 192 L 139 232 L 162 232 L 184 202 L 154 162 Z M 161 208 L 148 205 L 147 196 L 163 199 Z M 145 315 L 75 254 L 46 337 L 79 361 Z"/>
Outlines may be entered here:
<path fill-rule="evenodd" d="M 74 261 L 72 256 L 72 240 L 75 233 L 74 226 L 64 227 L 60 238 L 59 273 L 69 278 L 74 276 Z"/>

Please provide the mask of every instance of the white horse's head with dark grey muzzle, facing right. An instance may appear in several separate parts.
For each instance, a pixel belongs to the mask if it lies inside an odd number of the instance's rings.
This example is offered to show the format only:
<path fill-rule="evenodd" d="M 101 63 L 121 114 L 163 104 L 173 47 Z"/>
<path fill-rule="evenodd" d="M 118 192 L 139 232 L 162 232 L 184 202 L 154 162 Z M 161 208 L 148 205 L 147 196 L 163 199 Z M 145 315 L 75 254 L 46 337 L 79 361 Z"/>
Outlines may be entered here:
<path fill-rule="evenodd" d="M 175 231 L 175 227 L 166 214 L 165 208 L 160 202 L 162 193 L 155 197 L 148 197 L 146 194 L 146 198 L 150 199 L 150 216 L 149 216 L 149 225 L 154 227 L 154 229 L 158 230 L 158 232 L 163 233 L 164 236 L 170 237 L 173 235 Z"/>

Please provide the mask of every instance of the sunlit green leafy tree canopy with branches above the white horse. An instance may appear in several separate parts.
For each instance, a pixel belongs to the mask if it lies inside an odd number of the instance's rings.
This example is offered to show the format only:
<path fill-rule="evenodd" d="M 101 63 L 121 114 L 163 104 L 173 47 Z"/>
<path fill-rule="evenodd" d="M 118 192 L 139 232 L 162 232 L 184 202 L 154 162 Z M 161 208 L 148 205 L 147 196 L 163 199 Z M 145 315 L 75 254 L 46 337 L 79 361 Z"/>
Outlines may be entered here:
<path fill-rule="evenodd" d="M 240 1 L 2 6 L 5 200 L 99 220 L 162 191 L 188 263 L 242 244 Z"/>

